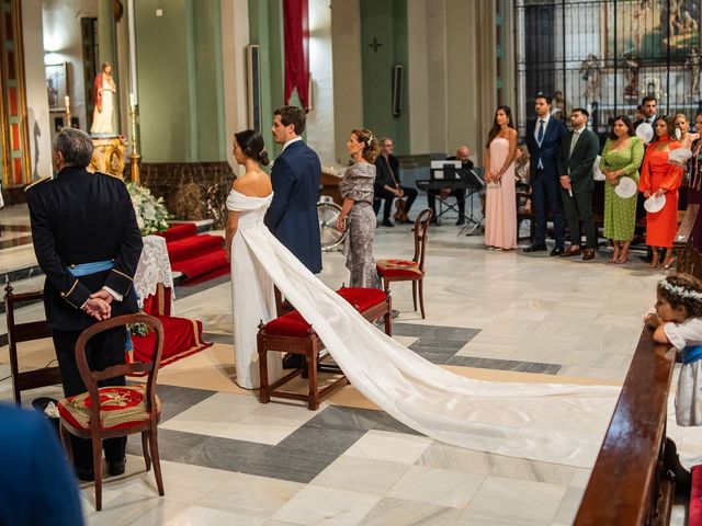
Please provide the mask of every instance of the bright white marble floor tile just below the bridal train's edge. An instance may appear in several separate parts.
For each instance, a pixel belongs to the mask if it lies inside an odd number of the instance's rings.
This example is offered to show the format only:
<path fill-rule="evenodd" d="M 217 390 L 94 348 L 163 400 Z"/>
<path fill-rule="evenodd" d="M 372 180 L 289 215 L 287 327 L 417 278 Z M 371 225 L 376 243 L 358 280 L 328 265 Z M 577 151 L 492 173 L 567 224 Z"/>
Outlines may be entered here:
<path fill-rule="evenodd" d="M 431 442 L 431 438 L 424 436 L 399 435 L 372 430 L 351 446 L 344 455 L 388 462 L 415 464 Z"/>

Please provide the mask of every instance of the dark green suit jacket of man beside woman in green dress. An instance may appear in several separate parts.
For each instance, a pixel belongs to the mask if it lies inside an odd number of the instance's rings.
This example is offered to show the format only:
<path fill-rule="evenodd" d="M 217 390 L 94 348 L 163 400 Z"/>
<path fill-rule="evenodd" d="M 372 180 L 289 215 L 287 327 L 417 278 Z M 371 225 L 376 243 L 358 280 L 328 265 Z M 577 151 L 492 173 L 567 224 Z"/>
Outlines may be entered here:
<path fill-rule="evenodd" d="M 592 164 L 600 150 L 600 139 L 589 129 L 580 132 L 580 137 L 570 153 L 573 132 L 569 132 L 561 142 L 558 152 L 558 175 L 569 175 L 573 193 L 592 192 L 595 179 L 592 178 Z"/>

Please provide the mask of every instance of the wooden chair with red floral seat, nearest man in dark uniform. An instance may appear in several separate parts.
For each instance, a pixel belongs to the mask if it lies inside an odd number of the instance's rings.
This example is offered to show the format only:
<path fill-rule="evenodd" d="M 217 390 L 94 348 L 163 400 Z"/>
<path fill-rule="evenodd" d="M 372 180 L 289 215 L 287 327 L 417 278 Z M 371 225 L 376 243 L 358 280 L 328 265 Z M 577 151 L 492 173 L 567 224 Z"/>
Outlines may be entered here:
<path fill-rule="evenodd" d="M 104 370 L 91 371 L 86 358 L 88 341 L 95 334 L 127 323 L 146 323 L 154 330 L 156 338 L 151 361 L 113 365 Z M 60 434 L 69 456 L 71 456 L 71 434 L 92 439 L 97 511 L 102 510 L 102 441 L 105 438 L 141 433 L 146 470 L 151 469 L 152 458 L 158 494 L 163 496 L 157 435 L 161 402 L 156 396 L 156 377 L 162 350 L 163 325 L 157 318 L 145 315 L 120 316 L 95 323 L 86 329 L 76 343 L 76 364 L 88 392 L 58 402 Z M 148 373 L 146 385 L 98 387 L 98 381 L 134 373 Z M 116 404 L 116 401 L 120 403 Z M 98 408 L 98 411 L 93 408 Z"/>

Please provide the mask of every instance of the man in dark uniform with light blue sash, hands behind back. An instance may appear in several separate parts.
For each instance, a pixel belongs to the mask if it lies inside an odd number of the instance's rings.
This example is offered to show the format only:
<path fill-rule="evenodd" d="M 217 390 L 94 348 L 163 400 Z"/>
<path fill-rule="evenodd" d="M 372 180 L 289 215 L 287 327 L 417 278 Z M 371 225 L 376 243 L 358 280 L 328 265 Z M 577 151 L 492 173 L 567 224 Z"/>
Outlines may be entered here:
<path fill-rule="evenodd" d="M 97 320 L 137 312 L 132 286 L 141 254 L 141 233 L 121 179 L 90 173 L 92 140 L 84 132 L 61 129 L 54 139 L 56 179 L 25 188 L 34 252 L 46 274 L 44 307 L 67 397 L 86 391 L 75 359 L 80 333 Z M 88 365 L 102 370 L 124 363 L 126 331 L 115 328 L 88 342 Z M 124 386 L 124 376 L 100 382 Z M 72 439 L 81 480 L 93 479 L 90 441 Z M 124 472 L 126 438 L 103 443 L 110 474 Z"/>

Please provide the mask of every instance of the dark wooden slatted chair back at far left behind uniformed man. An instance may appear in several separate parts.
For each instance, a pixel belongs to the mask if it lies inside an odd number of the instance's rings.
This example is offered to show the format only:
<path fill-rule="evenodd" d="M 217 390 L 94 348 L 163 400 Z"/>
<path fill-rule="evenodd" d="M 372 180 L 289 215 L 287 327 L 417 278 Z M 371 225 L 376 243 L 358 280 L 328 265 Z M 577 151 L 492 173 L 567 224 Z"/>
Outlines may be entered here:
<path fill-rule="evenodd" d="M 8 347 L 10 352 L 10 371 L 12 374 L 12 391 L 14 401 L 22 403 L 20 393 L 27 389 L 36 389 L 37 387 L 54 386 L 61 382 L 61 371 L 57 366 L 44 367 L 42 369 L 22 370 L 20 371 L 20 359 L 18 356 L 18 343 L 31 342 L 52 338 L 52 330 L 48 328 L 46 320 L 30 321 L 25 323 L 16 323 L 14 316 L 15 310 L 21 304 L 41 302 L 44 295 L 41 290 L 14 294 L 10 283 L 4 287 L 4 308 L 8 321 Z M 52 354 L 54 344 L 52 346 Z"/>

